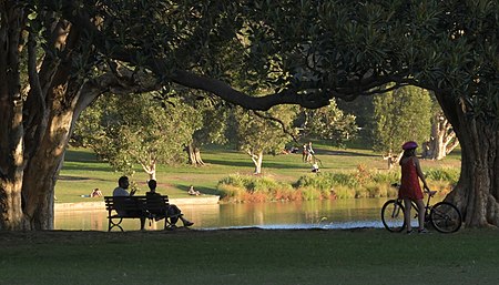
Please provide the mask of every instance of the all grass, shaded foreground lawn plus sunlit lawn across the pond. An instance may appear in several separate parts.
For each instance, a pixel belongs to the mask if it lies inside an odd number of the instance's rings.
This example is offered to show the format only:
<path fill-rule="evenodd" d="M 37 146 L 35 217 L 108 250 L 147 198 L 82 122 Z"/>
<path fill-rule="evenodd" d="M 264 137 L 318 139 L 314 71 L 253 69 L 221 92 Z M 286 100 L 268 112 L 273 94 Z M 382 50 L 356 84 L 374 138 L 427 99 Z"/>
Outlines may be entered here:
<path fill-rule="evenodd" d="M 323 172 L 384 171 L 366 150 L 316 145 Z M 193 184 L 215 191 L 220 179 L 251 174 L 242 153 L 203 152 L 207 166 L 160 165 L 160 191 L 187 196 Z M 459 154 L 421 162 L 424 170 L 459 167 Z M 267 155 L 264 174 L 294 182 L 309 172 L 301 154 Z M 61 171 L 58 202 L 84 202 L 93 187 L 105 195 L 119 173 L 86 150 L 71 150 Z M 146 175 L 134 180 L 145 190 Z M 406 235 L 378 228 L 218 230 L 146 232 L 1 232 L 0 284 L 499 284 L 499 232 Z"/>

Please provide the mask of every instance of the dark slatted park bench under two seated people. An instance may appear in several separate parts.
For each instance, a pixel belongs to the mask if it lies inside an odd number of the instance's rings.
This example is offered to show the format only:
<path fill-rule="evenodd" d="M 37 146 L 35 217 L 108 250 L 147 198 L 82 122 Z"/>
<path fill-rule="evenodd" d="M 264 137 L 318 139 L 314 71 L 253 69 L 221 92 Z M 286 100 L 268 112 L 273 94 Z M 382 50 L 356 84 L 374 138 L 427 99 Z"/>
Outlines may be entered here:
<path fill-rule="evenodd" d="M 141 221 L 141 231 L 145 227 L 145 221 L 150 223 L 164 218 L 164 228 L 171 227 L 167 208 L 169 196 L 156 196 L 147 199 L 146 196 L 105 196 L 105 210 L 108 211 L 108 232 L 118 227 L 122 232 L 121 223 L 124 218 L 139 218 Z"/>

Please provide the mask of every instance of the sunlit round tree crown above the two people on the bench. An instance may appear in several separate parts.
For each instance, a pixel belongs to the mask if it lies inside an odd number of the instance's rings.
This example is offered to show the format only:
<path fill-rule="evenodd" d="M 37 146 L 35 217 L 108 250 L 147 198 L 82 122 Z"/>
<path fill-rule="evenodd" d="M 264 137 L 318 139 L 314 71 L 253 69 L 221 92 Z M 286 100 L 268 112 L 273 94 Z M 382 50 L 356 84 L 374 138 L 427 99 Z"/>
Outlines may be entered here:
<path fill-rule="evenodd" d="M 190 105 L 170 100 L 162 103 L 151 94 L 101 98 L 82 113 L 74 134 L 129 175 L 135 164 L 150 173 L 156 163 L 184 162 L 184 145 L 201 120 Z"/>

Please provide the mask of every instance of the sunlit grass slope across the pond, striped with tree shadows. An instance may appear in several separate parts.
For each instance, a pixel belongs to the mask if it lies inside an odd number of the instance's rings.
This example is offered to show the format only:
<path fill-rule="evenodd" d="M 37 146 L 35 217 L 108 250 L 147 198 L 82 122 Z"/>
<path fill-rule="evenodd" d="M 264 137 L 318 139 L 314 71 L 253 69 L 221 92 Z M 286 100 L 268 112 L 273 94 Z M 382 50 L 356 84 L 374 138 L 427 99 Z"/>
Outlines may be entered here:
<path fill-rule="evenodd" d="M 358 165 L 368 170 L 387 171 L 387 162 L 381 155 L 364 149 L 336 149 L 324 144 L 315 144 L 316 156 L 322 162 L 320 171 L 349 172 Z M 203 150 L 205 166 L 194 167 L 186 164 L 157 165 L 159 191 L 170 197 L 186 197 L 189 186 L 205 194 L 215 194 L 216 184 L 222 177 L 231 174 L 252 175 L 253 163 L 248 155 L 221 147 Z M 459 167 L 460 153 L 455 151 L 444 161 L 421 161 L 425 169 Z M 138 183 L 141 192 L 146 191 L 149 176 L 136 169 L 132 180 Z M 294 183 L 302 175 L 310 172 L 310 164 L 302 162 L 302 154 L 265 155 L 263 175 L 277 181 Z M 85 149 L 70 149 L 55 185 L 57 203 L 89 202 L 92 199 L 81 197 L 99 187 L 104 195 L 111 195 L 121 173 L 114 172 L 105 162 L 96 160 L 95 155 Z M 140 193 L 140 192 L 139 192 Z"/>

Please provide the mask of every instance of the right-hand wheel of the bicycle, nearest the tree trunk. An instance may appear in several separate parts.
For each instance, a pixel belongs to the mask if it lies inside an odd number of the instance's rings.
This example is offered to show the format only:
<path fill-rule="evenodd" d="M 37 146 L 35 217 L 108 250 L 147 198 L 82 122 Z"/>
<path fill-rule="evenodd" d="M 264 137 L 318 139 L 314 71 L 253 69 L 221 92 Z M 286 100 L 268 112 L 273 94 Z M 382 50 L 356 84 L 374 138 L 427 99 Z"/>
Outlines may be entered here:
<path fill-rule="evenodd" d="M 430 221 L 440 233 L 455 233 L 462 224 L 461 213 L 448 202 L 439 202 L 431 207 Z"/>

